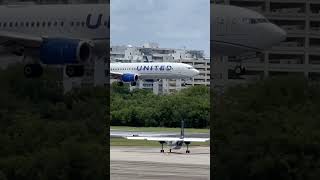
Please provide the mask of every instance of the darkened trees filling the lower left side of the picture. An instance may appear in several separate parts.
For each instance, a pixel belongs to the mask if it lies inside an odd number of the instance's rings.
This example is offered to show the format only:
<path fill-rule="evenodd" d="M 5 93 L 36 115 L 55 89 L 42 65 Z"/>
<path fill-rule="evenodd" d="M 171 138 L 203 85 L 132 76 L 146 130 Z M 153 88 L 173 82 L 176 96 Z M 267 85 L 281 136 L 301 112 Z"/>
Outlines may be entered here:
<path fill-rule="evenodd" d="M 46 71 L 47 72 L 47 71 Z M 0 70 L 0 179 L 105 179 L 107 91 L 63 94 L 55 73 Z"/>

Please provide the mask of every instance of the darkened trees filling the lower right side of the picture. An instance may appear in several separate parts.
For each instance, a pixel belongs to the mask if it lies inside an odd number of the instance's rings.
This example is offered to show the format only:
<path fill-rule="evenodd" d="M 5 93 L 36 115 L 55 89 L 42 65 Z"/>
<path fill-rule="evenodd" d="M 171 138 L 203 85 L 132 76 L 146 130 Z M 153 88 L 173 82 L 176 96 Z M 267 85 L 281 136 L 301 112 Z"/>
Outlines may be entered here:
<path fill-rule="evenodd" d="M 319 83 L 270 78 L 213 98 L 212 177 L 319 179 Z"/>

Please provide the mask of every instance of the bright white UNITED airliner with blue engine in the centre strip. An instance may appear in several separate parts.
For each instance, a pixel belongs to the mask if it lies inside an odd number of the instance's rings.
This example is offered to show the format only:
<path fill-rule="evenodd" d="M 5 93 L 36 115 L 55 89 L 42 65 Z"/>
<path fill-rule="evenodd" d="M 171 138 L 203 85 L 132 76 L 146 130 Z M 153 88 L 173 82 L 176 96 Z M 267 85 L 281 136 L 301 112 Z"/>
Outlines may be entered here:
<path fill-rule="evenodd" d="M 135 86 L 138 79 L 187 79 L 198 74 L 198 70 L 184 63 L 110 63 L 110 75 L 119 80 L 119 85 Z"/>

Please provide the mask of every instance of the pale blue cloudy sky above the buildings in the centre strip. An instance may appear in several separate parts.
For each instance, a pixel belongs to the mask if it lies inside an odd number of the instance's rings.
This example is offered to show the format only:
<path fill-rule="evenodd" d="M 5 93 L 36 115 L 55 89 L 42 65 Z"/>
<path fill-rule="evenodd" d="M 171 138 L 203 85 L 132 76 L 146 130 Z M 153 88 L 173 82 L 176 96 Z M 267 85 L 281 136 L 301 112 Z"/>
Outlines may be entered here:
<path fill-rule="evenodd" d="M 111 45 L 186 48 L 210 53 L 209 0 L 111 0 Z"/>

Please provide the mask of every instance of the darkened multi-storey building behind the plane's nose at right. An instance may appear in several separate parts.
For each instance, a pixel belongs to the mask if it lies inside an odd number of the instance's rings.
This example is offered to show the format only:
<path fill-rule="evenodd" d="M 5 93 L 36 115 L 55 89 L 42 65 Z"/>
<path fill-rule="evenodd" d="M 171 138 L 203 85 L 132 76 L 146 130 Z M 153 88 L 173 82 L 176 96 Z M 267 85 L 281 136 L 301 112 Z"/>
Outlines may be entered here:
<path fill-rule="evenodd" d="M 216 86 L 246 83 L 270 76 L 298 74 L 320 80 L 320 1 L 319 0 L 215 0 L 255 10 L 287 32 L 286 41 L 259 54 L 214 59 Z M 263 34 L 261 38 L 264 37 Z M 239 59 L 246 74 L 233 73 Z"/>

